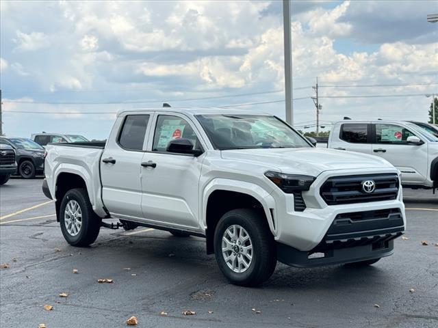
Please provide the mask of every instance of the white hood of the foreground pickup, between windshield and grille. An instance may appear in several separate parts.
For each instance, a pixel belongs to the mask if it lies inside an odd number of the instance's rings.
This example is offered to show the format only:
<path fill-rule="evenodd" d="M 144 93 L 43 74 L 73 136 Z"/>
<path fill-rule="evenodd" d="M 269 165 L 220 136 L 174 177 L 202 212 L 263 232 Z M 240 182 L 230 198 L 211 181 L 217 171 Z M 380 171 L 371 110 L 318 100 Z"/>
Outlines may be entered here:
<path fill-rule="evenodd" d="M 283 173 L 318 176 L 335 169 L 393 167 L 378 156 L 327 148 L 264 148 L 222 150 L 223 159 L 251 161 Z"/>

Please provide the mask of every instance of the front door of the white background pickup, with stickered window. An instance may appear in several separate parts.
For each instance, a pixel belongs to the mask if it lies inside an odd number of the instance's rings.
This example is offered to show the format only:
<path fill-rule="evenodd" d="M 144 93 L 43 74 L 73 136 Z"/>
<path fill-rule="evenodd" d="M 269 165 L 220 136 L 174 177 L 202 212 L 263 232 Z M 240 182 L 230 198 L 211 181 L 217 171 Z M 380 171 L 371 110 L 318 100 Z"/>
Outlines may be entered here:
<path fill-rule="evenodd" d="M 386 159 L 402 172 L 402 181 L 421 183 L 427 177 L 427 143 L 411 145 L 407 137 L 415 135 L 398 124 L 372 124 L 374 155 Z M 423 139 L 420 135 L 416 135 Z"/>

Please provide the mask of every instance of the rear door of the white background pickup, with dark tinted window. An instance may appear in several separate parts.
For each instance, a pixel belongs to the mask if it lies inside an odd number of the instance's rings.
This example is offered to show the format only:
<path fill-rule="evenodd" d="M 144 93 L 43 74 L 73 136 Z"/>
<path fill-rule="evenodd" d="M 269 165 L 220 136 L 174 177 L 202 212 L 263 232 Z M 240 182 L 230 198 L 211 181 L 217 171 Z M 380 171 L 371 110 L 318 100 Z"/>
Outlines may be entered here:
<path fill-rule="evenodd" d="M 350 150 L 371 154 L 371 124 L 342 123 L 339 129 L 333 131 L 337 135 L 331 136 L 330 148 Z"/>

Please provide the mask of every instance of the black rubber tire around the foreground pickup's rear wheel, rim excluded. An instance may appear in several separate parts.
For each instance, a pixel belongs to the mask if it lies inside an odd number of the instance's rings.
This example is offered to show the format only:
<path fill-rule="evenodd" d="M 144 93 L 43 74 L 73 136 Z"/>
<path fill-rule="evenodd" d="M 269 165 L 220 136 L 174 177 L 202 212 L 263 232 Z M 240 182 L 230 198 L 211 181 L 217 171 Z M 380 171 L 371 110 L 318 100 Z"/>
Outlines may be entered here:
<path fill-rule="evenodd" d="M 66 206 L 68 202 L 75 201 L 79 204 L 81 210 L 81 227 L 79 228 L 79 233 L 76 235 L 68 232 L 66 227 Z M 74 202 L 73 202 L 74 203 Z M 88 198 L 88 193 L 86 189 L 77 188 L 70 189 L 64 195 L 60 206 L 60 225 L 61 231 L 66 239 L 67 243 L 72 246 L 88 246 L 94 241 L 96 241 L 99 235 L 99 230 L 101 229 L 102 219 L 94 213 L 92 205 Z"/>

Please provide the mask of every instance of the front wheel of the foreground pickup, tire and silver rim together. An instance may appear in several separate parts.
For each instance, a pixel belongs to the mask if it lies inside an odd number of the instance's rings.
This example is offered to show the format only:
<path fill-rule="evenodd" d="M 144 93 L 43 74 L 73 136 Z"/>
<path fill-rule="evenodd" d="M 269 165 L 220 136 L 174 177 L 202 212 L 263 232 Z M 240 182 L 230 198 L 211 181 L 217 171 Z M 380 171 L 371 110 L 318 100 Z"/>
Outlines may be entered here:
<path fill-rule="evenodd" d="M 276 247 L 265 215 L 240 208 L 225 213 L 214 233 L 220 271 L 233 284 L 257 286 L 274 273 Z"/>

